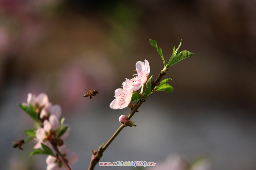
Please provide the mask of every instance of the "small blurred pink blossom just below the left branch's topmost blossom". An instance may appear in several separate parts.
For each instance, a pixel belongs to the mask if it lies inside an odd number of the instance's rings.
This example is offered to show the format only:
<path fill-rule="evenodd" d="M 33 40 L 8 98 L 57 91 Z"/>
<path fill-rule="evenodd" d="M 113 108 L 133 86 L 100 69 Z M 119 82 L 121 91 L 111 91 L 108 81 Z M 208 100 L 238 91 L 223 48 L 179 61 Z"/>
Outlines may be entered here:
<path fill-rule="evenodd" d="M 58 119 L 60 118 L 61 107 L 59 104 L 52 105 L 52 103 L 49 102 L 48 105 L 42 109 L 40 118 L 42 119 L 44 116 L 49 117 L 50 115 L 55 115 Z"/>

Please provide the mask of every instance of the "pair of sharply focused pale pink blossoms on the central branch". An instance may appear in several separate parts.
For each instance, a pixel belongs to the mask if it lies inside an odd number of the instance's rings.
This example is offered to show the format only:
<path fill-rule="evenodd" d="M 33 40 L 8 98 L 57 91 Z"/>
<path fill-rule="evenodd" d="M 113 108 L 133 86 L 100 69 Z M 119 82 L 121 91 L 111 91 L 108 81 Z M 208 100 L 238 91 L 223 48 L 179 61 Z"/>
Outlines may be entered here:
<path fill-rule="evenodd" d="M 137 74 L 132 79 L 127 79 L 123 82 L 123 88 L 118 88 L 115 91 L 115 98 L 110 103 L 110 108 L 118 109 L 125 108 L 131 102 L 131 97 L 134 91 L 139 90 L 143 84 L 147 82 L 148 75 L 150 74 L 150 66 L 148 60 L 145 62 L 137 62 L 136 70 Z"/>

